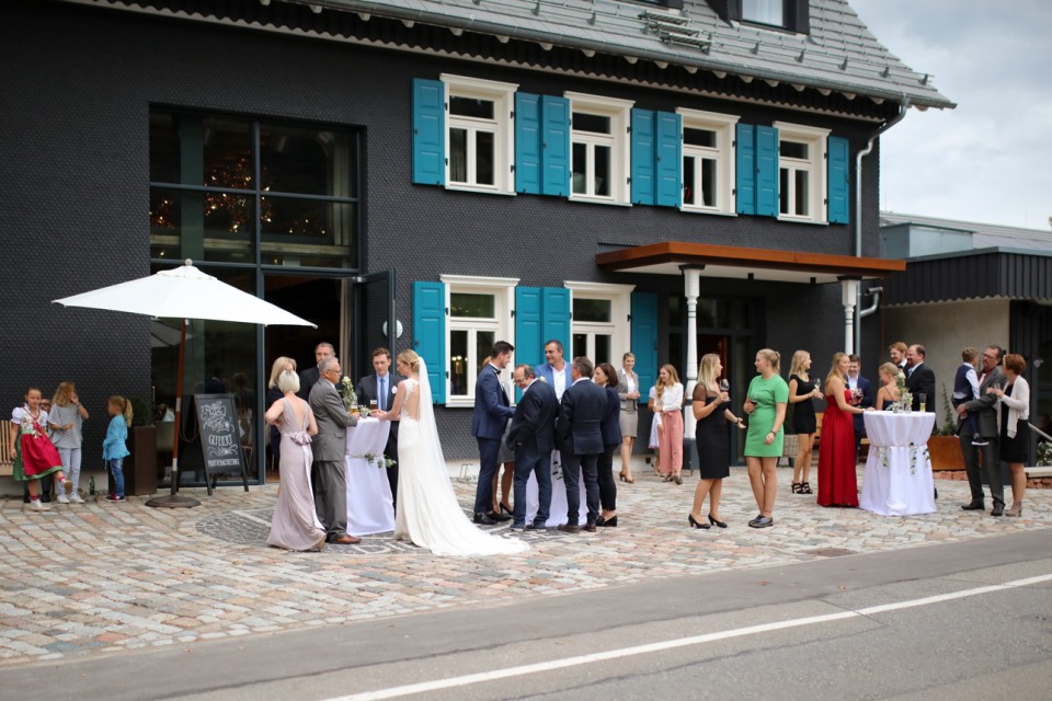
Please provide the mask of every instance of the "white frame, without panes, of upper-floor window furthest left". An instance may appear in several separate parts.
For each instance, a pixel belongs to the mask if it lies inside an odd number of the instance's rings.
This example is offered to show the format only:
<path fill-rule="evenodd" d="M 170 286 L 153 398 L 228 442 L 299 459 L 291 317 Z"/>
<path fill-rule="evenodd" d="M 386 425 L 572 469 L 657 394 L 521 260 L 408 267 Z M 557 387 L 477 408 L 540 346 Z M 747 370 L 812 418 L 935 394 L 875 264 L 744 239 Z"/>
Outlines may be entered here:
<path fill-rule="evenodd" d="M 446 189 L 466 189 L 514 195 L 515 179 L 512 173 L 512 163 L 515 162 L 515 91 L 516 83 L 502 83 L 493 80 L 467 78 L 442 73 L 439 79 L 446 88 L 445 117 L 446 117 Z M 449 108 L 454 97 L 471 97 L 490 100 L 493 102 L 493 119 L 478 119 L 450 114 Z M 474 176 L 474 139 L 468 139 L 468 182 L 453 182 L 453 159 L 449 136 L 451 129 L 467 129 L 469 134 L 477 131 L 493 131 L 493 184 L 473 182 Z"/>

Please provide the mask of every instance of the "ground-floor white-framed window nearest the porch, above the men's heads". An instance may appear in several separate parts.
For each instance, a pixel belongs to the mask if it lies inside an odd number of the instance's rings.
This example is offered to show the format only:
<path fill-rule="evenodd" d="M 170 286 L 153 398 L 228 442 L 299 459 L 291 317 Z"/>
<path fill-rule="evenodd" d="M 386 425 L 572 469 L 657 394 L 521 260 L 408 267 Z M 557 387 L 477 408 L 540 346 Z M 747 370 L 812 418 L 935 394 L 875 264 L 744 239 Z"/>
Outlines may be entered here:
<path fill-rule="evenodd" d="M 573 312 L 568 357 L 583 355 L 596 365 L 609 363 L 620 367 L 618 361 L 632 341 L 627 322 L 636 286 L 571 281 L 565 287 L 570 289 Z"/>

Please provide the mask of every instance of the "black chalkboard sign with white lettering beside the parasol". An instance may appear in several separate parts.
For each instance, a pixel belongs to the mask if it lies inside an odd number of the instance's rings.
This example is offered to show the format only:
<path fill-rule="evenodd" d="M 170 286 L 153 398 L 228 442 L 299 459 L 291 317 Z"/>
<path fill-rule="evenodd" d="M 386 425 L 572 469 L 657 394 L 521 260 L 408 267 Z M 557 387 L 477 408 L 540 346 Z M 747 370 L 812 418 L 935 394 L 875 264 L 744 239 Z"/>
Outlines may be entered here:
<path fill-rule="evenodd" d="M 248 492 L 248 470 L 233 394 L 194 394 L 187 399 L 179 446 L 180 473 L 187 469 L 204 470 L 208 494 L 220 474 L 239 473 Z"/>

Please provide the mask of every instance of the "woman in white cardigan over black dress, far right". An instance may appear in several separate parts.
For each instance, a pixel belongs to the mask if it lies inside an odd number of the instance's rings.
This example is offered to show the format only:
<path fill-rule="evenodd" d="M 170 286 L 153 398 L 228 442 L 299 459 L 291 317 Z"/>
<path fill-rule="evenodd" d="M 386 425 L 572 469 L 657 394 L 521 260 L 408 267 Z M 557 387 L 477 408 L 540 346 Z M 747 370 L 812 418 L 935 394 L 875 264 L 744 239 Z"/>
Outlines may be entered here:
<path fill-rule="evenodd" d="M 1009 353 L 1004 360 L 1005 389 L 990 388 L 987 393 L 996 394 L 997 424 L 1000 426 L 1000 459 L 1011 470 L 1011 508 L 1005 516 L 1022 515 L 1022 496 L 1027 490 L 1027 471 L 1024 463 L 1030 447 L 1030 384 L 1022 377 L 1027 361 L 1017 353 Z"/>

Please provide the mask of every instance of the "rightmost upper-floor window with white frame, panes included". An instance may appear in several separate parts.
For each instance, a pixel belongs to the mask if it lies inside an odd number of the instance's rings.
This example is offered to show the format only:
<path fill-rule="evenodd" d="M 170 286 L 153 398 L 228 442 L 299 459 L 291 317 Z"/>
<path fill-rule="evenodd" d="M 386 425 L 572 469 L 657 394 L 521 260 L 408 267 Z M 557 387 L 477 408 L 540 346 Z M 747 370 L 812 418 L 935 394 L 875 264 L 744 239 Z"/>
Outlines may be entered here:
<path fill-rule="evenodd" d="M 779 219 L 825 221 L 828 129 L 776 122 Z"/>

